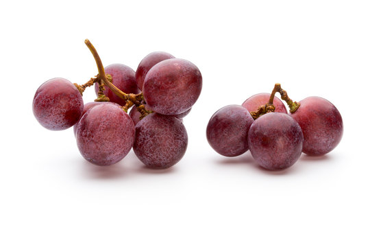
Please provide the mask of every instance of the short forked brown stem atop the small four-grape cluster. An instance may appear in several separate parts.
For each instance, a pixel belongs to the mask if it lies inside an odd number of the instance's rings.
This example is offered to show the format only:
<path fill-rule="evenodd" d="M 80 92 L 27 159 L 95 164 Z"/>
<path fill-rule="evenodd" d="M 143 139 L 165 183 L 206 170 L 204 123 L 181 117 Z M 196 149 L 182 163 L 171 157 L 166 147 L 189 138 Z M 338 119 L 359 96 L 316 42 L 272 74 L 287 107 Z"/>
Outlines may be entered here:
<path fill-rule="evenodd" d="M 254 120 L 258 119 L 258 117 L 266 113 L 273 113 L 275 111 L 275 106 L 273 105 L 275 93 L 280 93 L 281 99 L 284 100 L 286 104 L 288 104 L 289 111 L 291 113 L 295 113 L 295 111 L 299 108 L 299 102 L 293 102 L 293 100 L 288 97 L 288 93 L 286 93 L 286 91 L 282 89 L 280 83 L 276 83 L 273 87 L 273 91 L 271 92 L 269 102 L 267 104 L 264 104 L 263 106 L 259 106 L 257 110 L 251 112 L 251 116 Z"/>

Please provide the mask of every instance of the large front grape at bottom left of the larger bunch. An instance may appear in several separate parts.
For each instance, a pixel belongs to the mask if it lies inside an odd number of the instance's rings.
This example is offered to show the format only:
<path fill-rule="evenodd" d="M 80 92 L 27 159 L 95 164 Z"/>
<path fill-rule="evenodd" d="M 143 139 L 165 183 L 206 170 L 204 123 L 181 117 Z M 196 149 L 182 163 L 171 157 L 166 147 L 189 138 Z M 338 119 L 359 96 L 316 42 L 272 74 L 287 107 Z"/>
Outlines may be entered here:
<path fill-rule="evenodd" d="M 76 141 L 79 152 L 95 165 L 112 165 L 126 156 L 135 138 L 130 116 L 118 106 L 101 104 L 79 120 Z"/>

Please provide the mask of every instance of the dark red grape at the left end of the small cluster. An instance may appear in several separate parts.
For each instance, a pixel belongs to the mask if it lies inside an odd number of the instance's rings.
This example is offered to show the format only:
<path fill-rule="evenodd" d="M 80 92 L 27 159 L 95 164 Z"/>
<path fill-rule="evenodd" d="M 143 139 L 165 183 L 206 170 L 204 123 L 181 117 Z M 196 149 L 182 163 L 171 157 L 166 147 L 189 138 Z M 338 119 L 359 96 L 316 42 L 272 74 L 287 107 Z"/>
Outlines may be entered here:
<path fill-rule="evenodd" d="M 248 130 L 253 122 L 248 110 L 242 106 L 225 106 L 217 110 L 208 122 L 208 143 L 223 156 L 243 154 L 249 149 Z"/>

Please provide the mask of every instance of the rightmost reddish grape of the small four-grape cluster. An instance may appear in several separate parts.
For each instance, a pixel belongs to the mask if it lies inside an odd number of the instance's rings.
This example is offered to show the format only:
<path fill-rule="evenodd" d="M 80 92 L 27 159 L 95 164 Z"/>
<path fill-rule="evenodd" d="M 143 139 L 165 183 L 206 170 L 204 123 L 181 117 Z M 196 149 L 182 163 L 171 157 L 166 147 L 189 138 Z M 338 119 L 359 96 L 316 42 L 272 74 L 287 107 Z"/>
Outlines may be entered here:
<path fill-rule="evenodd" d="M 302 152 L 317 156 L 332 151 L 343 135 L 341 113 L 321 97 L 306 97 L 299 103 L 301 105 L 292 117 L 304 133 Z"/>

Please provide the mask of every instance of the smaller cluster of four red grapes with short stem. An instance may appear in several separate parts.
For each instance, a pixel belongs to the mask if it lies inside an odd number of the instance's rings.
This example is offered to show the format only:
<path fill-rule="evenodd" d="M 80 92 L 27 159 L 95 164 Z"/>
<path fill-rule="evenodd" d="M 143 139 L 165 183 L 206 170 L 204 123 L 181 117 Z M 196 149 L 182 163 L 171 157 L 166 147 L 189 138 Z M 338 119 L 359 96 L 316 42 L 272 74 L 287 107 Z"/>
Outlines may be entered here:
<path fill-rule="evenodd" d="M 284 103 L 287 103 L 289 113 Z M 239 105 L 225 106 L 207 126 L 211 147 L 223 156 L 251 151 L 258 165 L 268 170 L 291 167 L 304 152 L 320 156 L 341 141 L 343 120 L 336 107 L 321 97 L 293 102 L 280 84 L 271 94 L 259 93 Z"/>

